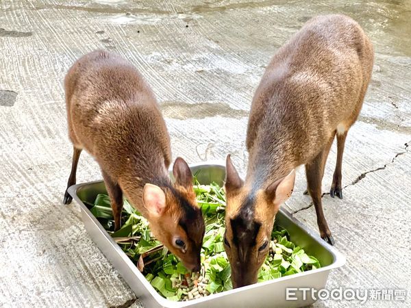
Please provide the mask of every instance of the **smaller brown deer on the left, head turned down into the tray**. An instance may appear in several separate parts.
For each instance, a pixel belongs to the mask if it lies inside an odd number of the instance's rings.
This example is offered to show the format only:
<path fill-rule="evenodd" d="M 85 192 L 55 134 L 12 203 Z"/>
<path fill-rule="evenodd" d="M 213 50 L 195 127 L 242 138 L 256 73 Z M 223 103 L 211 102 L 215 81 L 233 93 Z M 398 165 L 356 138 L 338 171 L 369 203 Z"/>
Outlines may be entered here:
<path fill-rule="evenodd" d="M 82 149 L 98 162 L 121 227 L 123 194 L 149 220 L 153 235 L 188 270 L 200 269 L 205 225 L 192 189 L 192 173 L 178 157 L 169 178 L 169 133 L 149 85 L 119 55 L 94 51 L 81 57 L 64 80 L 75 184 Z M 71 202 L 66 192 L 65 204 Z"/>

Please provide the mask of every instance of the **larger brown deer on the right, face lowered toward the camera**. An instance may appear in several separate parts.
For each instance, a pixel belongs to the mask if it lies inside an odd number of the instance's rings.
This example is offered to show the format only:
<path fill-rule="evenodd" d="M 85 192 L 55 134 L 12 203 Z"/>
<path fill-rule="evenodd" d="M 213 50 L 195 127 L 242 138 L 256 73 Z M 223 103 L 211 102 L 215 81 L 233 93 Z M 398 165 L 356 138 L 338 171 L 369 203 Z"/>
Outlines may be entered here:
<path fill-rule="evenodd" d="M 297 166 L 306 166 L 321 238 L 334 243 L 321 205 L 325 161 L 337 136 L 331 196 L 342 198 L 345 138 L 360 113 L 372 67 L 369 38 L 342 15 L 312 18 L 274 55 L 251 104 L 244 182 L 227 157 L 225 251 L 234 287 L 257 281 Z"/>

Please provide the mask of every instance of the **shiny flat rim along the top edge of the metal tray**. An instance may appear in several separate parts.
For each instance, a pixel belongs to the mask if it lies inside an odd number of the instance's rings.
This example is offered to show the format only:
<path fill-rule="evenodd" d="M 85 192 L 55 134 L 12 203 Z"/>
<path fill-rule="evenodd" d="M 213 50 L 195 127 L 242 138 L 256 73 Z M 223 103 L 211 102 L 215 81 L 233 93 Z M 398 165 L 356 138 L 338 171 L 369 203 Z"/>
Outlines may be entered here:
<path fill-rule="evenodd" d="M 190 168 L 201 167 L 201 166 L 218 166 L 218 167 L 225 168 L 225 164 L 223 164 L 221 161 L 199 162 L 199 163 L 196 163 L 196 164 L 190 164 L 189 166 L 190 166 Z M 173 305 L 173 307 L 186 307 L 188 305 L 195 305 L 196 303 L 201 303 L 203 301 L 206 301 L 206 300 L 209 300 L 209 299 L 212 299 L 212 298 L 219 298 L 221 296 L 229 296 L 230 294 L 236 294 L 238 292 L 242 292 L 243 290 L 256 289 L 256 288 L 260 287 L 261 285 L 275 284 L 279 281 L 286 281 L 286 280 L 289 280 L 289 279 L 295 279 L 297 277 L 303 277 L 303 276 L 318 273 L 318 272 L 325 272 L 325 271 L 329 271 L 329 270 L 332 270 L 334 268 L 339 268 L 339 267 L 345 265 L 346 259 L 345 259 L 345 256 L 342 253 L 340 253 L 338 250 L 336 250 L 336 248 L 334 248 L 333 246 L 330 246 L 329 244 L 327 244 L 323 239 L 321 239 L 319 237 L 319 235 L 317 235 L 311 229 L 309 229 L 308 227 L 303 225 L 301 222 L 299 222 L 299 220 L 292 217 L 291 214 L 286 209 L 280 208 L 279 211 L 282 211 L 282 214 L 285 214 L 286 216 L 288 216 L 288 218 L 292 221 L 292 223 L 297 224 L 299 227 L 301 227 L 301 229 L 306 231 L 306 233 L 308 233 L 314 240 L 316 240 L 316 242 L 319 242 L 319 244 L 321 246 L 323 246 L 329 253 L 332 254 L 332 256 L 334 258 L 334 261 L 332 262 L 332 264 L 329 264 L 328 266 L 325 266 L 325 267 L 317 268 L 315 270 L 310 270 L 308 272 L 301 272 L 301 273 L 298 273 L 298 274 L 292 274 L 290 276 L 280 277 L 280 278 L 273 279 L 273 280 L 270 280 L 270 281 L 264 281 L 262 283 L 247 285 L 245 287 L 239 287 L 237 289 L 221 292 L 221 293 L 218 293 L 218 294 L 212 294 L 210 296 L 206 296 L 206 297 L 195 299 L 195 300 L 190 300 L 188 302 L 174 302 L 172 300 L 167 300 L 166 298 L 160 296 L 160 294 L 158 294 L 158 292 L 147 281 L 147 279 L 145 279 L 144 275 L 141 274 L 141 272 L 139 270 L 137 270 L 137 268 L 132 263 L 132 261 L 127 257 L 127 255 L 125 255 L 125 253 L 123 253 L 120 246 L 112 239 L 110 234 L 108 234 L 108 232 L 105 231 L 105 229 L 101 226 L 101 224 L 99 223 L 97 218 L 95 218 L 95 216 L 91 214 L 88 207 L 86 207 L 86 205 L 84 205 L 84 203 L 77 196 L 77 190 L 79 188 L 82 188 L 83 186 L 86 186 L 86 185 L 97 184 L 97 183 L 102 183 L 102 182 L 103 181 L 100 180 L 100 181 L 91 181 L 91 182 L 87 182 L 87 183 L 80 183 L 80 184 L 72 185 L 69 188 L 68 192 L 73 197 L 73 199 L 79 204 L 82 211 L 84 211 L 84 213 L 92 220 L 92 222 L 94 222 L 95 227 L 97 227 L 97 229 L 110 242 L 110 244 L 117 251 L 117 253 L 119 253 L 119 256 L 121 257 L 121 259 L 123 259 L 123 261 L 125 261 L 128 264 L 128 266 L 130 268 L 132 268 L 132 271 L 134 272 L 134 274 L 136 274 L 136 276 L 142 282 L 142 284 L 145 285 L 147 290 L 150 292 L 151 296 L 153 296 L 153 298 L 155 298 L 155 300 L 160 305 L 162 305 L 164 307 L 169 307 L 170 305 Z"/>

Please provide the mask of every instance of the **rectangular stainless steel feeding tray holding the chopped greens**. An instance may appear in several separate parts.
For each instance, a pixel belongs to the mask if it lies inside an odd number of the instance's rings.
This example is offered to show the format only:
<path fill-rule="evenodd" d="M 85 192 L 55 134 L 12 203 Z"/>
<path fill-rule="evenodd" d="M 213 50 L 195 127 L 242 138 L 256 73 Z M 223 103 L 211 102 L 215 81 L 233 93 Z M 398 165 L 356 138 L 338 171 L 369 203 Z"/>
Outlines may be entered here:
<path fill-rule="evenodd" d="M 190 165 L 193 174 L 201 184 L 213 181 L 223 185 L 225 166 L 219 163 L 200 163 Z M 196 300 L 173 302 L 160 296 L 136 265 L 123 253 L 120 246 L 93 216 L 85 203 L 94 203 L 97 194 L 105 193 L 103 181 L 73 185 L 69 193 L 79 203 L 86 230 L 92 240 L 99 246 L 105 257 L 119 270 L 136 296 L 146 307 L 302 307 L 314 303 L 311 296 L 303 300 L 302 292 L 297 292 L 297 300 L 286 300 L 287 287 L 312 287 L 320 290 L 325 287 L 329 271 L 345 264 L 345 257 L 336 249 L 325 243 L 316 233 L 310 231 L 299 221 L 292 218 L 284 209 L 276 217 L 279 226 L 290 233 L 290 240 L 301 246 L 306 253 L 319 259 L 321 268 L 256 283 L 235 290 L 212 294 Z M 85 203 L 84 203 L 85 202 Z"/>

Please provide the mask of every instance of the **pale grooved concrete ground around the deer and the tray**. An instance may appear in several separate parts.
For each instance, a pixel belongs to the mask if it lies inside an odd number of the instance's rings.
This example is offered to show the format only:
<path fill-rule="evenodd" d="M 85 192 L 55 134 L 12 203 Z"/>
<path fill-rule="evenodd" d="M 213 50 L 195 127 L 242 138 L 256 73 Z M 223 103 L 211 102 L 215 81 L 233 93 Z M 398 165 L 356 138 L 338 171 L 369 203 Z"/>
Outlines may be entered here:
<path fill-rule="evenodd" d="M 127 57 L 158 97 L 174 157 L 232 153 L 243 172 L 251 97 L 271 55 L 311 16 L 337 12 L 369 34 L 375 66 L 347 139 L 344 199 L 323 197 L 336 248 L 347 255 L 327 287 L 410 293 L 411 1 L 162 2 L 0 1 L 0 306 L 140 305 L 88 237 L 79 207 L 62 205 L 71 166 L 62 80 L 77 57 L 97 48 Z M 335 157 L 333 148 L 324 192 Z M 86 154 L 77 179 L 101 179 Z M 299 170 L 284 206 L 317 231 L 305 187 Z M 365 305 L 410 307 L 411 294 Z"/>

